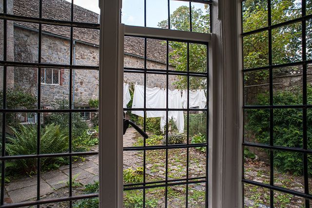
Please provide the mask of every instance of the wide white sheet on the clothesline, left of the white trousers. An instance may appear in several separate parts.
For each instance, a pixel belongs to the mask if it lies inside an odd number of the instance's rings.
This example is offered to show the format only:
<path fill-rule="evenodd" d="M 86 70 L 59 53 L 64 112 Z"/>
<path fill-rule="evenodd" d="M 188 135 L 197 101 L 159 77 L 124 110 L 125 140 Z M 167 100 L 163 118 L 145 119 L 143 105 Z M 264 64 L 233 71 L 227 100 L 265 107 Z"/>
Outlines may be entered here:
<path fill-rule="evenodd" d="M 165 108 L 166 91 L 158 87 L 146 87 L 146 108 Z M 132 108 L 144 108 L 144 86 L 135 85 Z M 133 110 L 133 114 L 144 117 L 144 111 Z M 147 118 L 161 117 L 163 111 L 147 111 Z"/>

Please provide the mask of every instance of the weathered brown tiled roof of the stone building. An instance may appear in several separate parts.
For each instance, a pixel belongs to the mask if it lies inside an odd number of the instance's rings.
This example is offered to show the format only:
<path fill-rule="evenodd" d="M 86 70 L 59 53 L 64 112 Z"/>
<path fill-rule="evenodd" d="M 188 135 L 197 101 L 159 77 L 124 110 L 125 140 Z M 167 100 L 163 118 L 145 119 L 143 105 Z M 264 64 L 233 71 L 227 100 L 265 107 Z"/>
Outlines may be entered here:
<path fill-rule="evenodd" d="M 39 18 L 39 0 L 14 0 L 14 14 L 24 17 Z M 74 5 L 74 21 L 98 23 L 99 15 L 90 10 Z M 70 21 L 71 3 L 65 0 L 42 0 L 42 18 Z M 39 29 L 38 24 L 15 22 L 16 25 L 31 29 Z M 70 27 L 42 25 L 42 31 L 66 38 L 70 38 Z M 76 41 L 99 45 L 99 30 L 74 28 L 73 38 Z M 170 47 L 169 52 L 173 49 Z M 124 51 L 128 54 L 144 57 L 144 39 L 125 37 Z M 161 40 L 147 40 L 147 58 L 158 62 L 166 62 L 166 44 Z"/>

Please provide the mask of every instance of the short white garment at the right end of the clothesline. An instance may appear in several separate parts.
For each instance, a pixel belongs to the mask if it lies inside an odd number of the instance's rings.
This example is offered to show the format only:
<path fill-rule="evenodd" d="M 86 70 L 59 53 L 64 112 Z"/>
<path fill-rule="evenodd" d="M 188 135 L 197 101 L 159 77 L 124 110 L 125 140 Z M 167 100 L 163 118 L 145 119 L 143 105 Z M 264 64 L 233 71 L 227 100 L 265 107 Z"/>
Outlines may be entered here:
<path fill-rule="evenodd" d="M 183 108 L 186 109 L 187 108 L 187 90 L 183 90 L 182 93 L 182 105 Z M 189 107 L 199 107 L 199 108 L 205 108 L 206 104 L 207 104 L 207 98 L 205 95 L 204 90 L 202 89 L 198 89 L 195 91 L 189 91 L 190 93 L 190 103 L 189 103 Z"/>

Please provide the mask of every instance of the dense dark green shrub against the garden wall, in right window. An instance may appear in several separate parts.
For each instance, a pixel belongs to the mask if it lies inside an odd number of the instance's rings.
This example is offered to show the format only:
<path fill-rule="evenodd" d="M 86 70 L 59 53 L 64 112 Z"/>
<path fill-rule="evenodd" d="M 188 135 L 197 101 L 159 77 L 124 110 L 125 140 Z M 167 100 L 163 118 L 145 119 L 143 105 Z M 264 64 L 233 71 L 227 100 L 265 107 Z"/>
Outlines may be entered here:
<path fill-rule="evenodd" d="M 302 104 L 302 90 L 292 89 L 274 93 L 276 105 Z M 312 86 L 307 85 L 308 101 L 312 101 Z M 269 96 L 259 94 L 258 104 L 268 104 Z M 256 103 L 257 104 L 257 103 Z M 274 109 L 273 112 L 273 145 L 288 147 L 303 147 L 302 110 L 296 108 Z M 249 109 L 245 113 L 247 125 L 245 138 L 251 142 L 270 144 L 270 111 L 266 109 Z M 307 126 L 312 126 L 312 111 L 307 110 Z M 308 138 L 312 131 L 308 129 Z M 312 140 L 308 140 L 308 148 L 312 148 Z M 267 150 L 269 153 L 270 151 Z M 308 172 L 312 175 L 312 155 L 308 155 Z M 274 152 L 274 166 L 282 172 L 292 172 L 294 175 L 303 174 L 302 153 L 289 151 Z"/>

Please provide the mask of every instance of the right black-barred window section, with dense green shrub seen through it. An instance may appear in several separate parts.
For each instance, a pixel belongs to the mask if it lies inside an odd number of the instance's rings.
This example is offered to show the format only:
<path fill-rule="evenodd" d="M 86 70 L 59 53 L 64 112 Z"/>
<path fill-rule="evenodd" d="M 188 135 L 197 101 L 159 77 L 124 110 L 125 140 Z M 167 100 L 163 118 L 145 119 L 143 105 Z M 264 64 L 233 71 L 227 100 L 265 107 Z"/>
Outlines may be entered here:
<path fill-rule="evenodd" d="M 244 206 L 309 208 L 311 1 L 243 0 L 241 8 Z"/>

